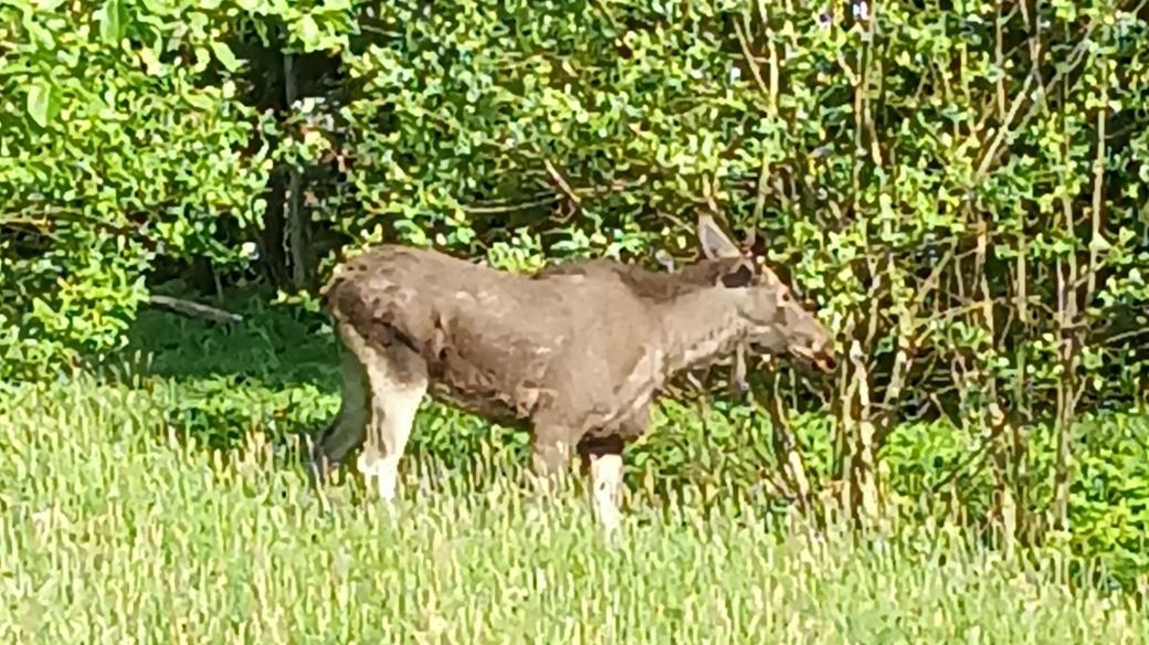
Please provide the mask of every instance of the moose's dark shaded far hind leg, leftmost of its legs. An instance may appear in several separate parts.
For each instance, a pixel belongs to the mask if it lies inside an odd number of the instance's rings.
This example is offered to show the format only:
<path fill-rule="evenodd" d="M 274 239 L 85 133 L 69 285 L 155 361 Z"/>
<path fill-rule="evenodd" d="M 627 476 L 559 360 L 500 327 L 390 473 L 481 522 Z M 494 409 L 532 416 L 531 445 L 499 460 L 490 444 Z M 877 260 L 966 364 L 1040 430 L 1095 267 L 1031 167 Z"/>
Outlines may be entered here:
<path fill-rule="evenodd" d="M 368 378 L 363 364 L 348 348 L 341 348 L 342 393 L 339 412 L 311 449 L 311 473 L 326 479 L 347 453 L 363 443 L 369 415 Z"/>

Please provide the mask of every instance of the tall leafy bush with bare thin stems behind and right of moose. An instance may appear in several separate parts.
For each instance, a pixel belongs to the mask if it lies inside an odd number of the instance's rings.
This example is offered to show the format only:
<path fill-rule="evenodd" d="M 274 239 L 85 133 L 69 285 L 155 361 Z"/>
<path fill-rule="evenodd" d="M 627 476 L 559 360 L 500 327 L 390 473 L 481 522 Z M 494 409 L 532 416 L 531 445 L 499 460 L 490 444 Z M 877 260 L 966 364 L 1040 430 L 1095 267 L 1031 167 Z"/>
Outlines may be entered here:
<path fill-rule="evenodd" d="M 900 421 L 948 418 L 979 434 L 986 513 L 1065 528 L 1075 414 L 1144 401 L 1149 23 L 1119 2 L 832 7 L 390 5 L 340 53 L 347 187 L 317 219 L 530 269 L 686 255 L 712 200 L 851 357 L 781 398 L 828 402 L 856 504 Z"/>

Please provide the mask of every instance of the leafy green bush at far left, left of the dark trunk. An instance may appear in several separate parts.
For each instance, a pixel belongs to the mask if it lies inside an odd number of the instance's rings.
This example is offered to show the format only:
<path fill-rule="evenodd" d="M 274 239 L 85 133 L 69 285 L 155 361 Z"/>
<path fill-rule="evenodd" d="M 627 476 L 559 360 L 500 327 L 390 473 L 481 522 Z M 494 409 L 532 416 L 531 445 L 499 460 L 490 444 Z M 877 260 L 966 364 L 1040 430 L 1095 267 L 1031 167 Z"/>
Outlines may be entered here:
<path fill-rule="evenodd" d="M 0 376 L 45 375 L 123 339 L 157 257 L 229 257 L 257 215 L 256 119 L 222 11 L 5 2 L 0 40 Z M 48 373 L 52 371 L 48 370 Z"/>

